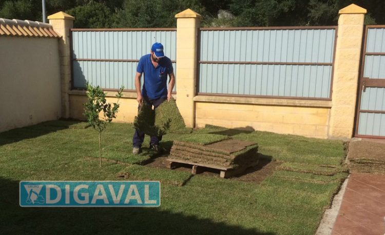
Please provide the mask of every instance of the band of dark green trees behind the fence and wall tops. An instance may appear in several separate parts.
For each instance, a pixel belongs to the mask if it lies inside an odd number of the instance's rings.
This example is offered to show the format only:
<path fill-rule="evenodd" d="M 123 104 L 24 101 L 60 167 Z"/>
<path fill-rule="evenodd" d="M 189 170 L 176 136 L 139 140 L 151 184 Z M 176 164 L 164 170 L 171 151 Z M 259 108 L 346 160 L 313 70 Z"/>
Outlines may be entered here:
<path fill-rule="evenodd" d="M 47 15 L 65 11 L 77 28 L 175 27 L 174 15 L 190 8 L 202 26 L 337 25 L 350 4 L 368 10 L 365 24 L 385 24 L 383 0 L 47 0 Z M 42 21 L 41 0 L 0 0 L 0 17 Z"/>

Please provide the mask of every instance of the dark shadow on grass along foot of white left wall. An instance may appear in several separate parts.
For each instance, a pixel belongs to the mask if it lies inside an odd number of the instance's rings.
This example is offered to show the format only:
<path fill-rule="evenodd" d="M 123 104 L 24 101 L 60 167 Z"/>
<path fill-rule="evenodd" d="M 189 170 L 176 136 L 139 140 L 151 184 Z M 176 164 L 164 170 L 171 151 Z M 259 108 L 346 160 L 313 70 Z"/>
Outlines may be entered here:
<path fill-rule="evenodd" d="M 54 121 L 47 121 L 27 127 L 15 128 L 0 133 L 0 146 L 26 139 L 33 139 L 38 136 L 68 128 L 87 128 L 87 124 L 78 120 L 60 119 Z"/>

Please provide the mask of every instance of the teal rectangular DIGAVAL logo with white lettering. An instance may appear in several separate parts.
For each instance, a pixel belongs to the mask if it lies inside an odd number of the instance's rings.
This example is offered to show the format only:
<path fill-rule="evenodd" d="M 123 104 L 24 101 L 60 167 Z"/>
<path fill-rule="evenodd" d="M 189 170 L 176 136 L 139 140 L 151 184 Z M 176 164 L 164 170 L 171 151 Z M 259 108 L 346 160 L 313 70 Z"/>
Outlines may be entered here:
<path fill-rule="evenodd" d="M 21 181 L 22 207 L 160 206 L 159 181 Z"/>

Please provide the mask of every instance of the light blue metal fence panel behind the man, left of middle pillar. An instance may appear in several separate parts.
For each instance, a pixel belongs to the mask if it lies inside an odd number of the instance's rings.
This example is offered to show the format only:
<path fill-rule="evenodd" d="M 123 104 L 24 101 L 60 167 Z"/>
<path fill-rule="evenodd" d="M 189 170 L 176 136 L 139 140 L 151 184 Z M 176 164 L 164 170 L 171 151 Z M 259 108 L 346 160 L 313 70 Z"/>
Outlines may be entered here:
<path fill-rule="evenodd" d="M 165 55 L 174 61 L 176 74 L 176 30 L 72 31 L 73 86 L 88 81 L 102 88 L 134 90 L 134 77 L 141 56 L 160 42 Z M 144 77 L 145 79 L 145 77 Z M 143 80 L 142 80 L 143 84 Z M 175 86 L 176 87 L 176 86 Z M 174 87 L 174 91 L 176 88 Z"/>

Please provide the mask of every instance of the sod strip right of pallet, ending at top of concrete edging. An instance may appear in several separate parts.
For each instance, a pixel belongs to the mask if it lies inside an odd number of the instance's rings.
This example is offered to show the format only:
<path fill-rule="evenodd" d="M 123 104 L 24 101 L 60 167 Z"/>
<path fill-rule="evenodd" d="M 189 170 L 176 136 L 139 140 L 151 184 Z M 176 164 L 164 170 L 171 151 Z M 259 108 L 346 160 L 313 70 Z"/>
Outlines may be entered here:
<path fill-rule="evenodd" d="M 303 172 L 294 172 L 287 170 L 277 170 L 273 173 L 274 177 L 282 178 L 285 180 L 299 180 L 304 182 L 314 182 L 314 183 L 330 183 L 330 182 L 339 182 L 343 181 L 348 177 L 348 172 L 338 172 L 334 175 L 321 175 L 313 173 L 303 173 Z"/>

